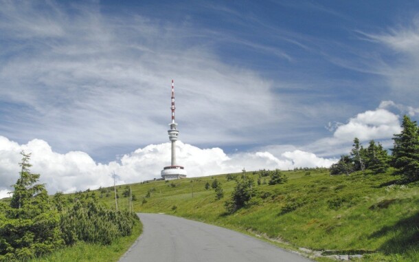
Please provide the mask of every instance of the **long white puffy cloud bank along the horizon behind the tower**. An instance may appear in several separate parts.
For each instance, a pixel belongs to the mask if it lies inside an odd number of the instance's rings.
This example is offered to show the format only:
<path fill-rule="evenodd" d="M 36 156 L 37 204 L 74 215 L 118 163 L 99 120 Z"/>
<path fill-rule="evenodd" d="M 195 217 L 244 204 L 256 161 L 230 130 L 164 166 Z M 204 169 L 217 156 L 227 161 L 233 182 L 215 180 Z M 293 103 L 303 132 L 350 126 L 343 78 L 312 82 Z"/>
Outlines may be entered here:
<path fill-rule="evenodd" d="M 117 174 L 117 184 L 135 183 L 160 177 L 163 166 L 170 160 L 170 143 L 150 144 L 121 157 L 120 161 L 108 164 L 96 163 L 87 153 L 71 151 L 65 154 L 54 152 L 43 140 L 31 140 L 19 145 L 0 136 L 0 197 L 7 197 L 12 190 L 9 185 L 19 177 L 19 162 L 22 150 L 32 153 L 32 173 L 41 174 L 41 183 L 47 185 L 49 193 L 65 193 L 111 186 Z M 279 157 L 268 151 L 234 153 L 227 155 L 222 149 L 200 149 L 191 144 L 177 142 L 177 162 L 185 166 L 188 177 L 237 173 L 260 168 L 282 170 L 295 167 L 330 166 L 336 160 L 317 157 L 300 150 L 286 151 Z"/>

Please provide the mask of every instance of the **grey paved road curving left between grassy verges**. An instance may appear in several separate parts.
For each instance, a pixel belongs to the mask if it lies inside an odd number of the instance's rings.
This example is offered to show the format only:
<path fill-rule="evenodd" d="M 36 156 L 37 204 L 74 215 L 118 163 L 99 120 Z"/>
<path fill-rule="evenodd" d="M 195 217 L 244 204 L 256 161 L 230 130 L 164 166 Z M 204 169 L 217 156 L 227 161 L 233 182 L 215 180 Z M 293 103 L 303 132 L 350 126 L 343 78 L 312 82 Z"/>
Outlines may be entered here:
<path fill-rule="evenodd" d="M 310 261 L 245 234 L 180 217 L 139 214 L 144 232 L 120 262 Z"/>

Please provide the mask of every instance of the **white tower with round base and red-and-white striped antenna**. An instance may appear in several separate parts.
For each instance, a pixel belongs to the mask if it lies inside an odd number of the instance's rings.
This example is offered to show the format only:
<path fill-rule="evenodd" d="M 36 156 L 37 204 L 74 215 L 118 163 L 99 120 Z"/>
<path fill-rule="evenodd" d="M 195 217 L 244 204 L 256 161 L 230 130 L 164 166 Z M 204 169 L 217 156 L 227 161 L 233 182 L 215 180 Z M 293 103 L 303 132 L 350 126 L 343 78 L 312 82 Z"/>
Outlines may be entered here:
<path fill-rule="evenodd" d="M 176 107 L 174 107 L 174 83 L 172 80 L 172 122 L 170 122 L 169 126 L 170 129 L 168 130 L 169 140 L 172 142 L 172 158 L 170 166 L 165 166 L 161 171 L 161 177 L 165 180 L 169 179 L 179 179 L 186 177 L 186 171 L 183 166 L 178 166 L 176 163 L 176 141 L 179 135 L 179 130 L 177 130 L 177 123 L 174 122 L 174 111 Z"/>

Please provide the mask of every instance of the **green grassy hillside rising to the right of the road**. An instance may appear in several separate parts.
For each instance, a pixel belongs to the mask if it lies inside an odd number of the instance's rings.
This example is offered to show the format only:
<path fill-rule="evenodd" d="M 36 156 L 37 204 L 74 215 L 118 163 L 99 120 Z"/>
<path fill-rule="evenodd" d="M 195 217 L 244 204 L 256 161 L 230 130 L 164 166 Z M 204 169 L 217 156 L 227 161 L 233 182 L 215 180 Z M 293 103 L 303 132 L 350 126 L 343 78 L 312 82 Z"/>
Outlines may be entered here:
<path fill-rule="evenodd" d="M 361 173 L 330 177 L 328 171 L 284 172 L 286 184 L 257 186 L 258 206 L 225 215 L 224 202 L 236 184 L 225 175 L 172 182 L 134 184 L 137 212 L 165 212 L 241 231 L 266 234 L 290 243 L 289 248 L 335 250 L 338 254 L 368 253 L 364 261 L 419 261 L 419 184 L 389 186 L 398 177 Z M 251 173 L 249 173 L 251 175 Z M 251 175 L 257 179 L 257 175 Z M 215 200 L 205 183 L 218 179 L 225 197 Z M 262 179 L 263 180 L 263 179 Z M 269 177 L 267 177 L 267 181 Z M 147 203 L 141 204 L 154 188 Z M 194 195 L 192 197 L 192 188 Z M 124 186 L 119 187 L 122 193 Z M 97 193 L 98 195 L 98 193 Z M 121 197 L 120 207 L 128 206 Z M 100 199 L 113 207 L 113 195 Z M 176 206 L 176 209 L 174 209 Z M 296 208 L 281 214 L 284 207 Z"/>

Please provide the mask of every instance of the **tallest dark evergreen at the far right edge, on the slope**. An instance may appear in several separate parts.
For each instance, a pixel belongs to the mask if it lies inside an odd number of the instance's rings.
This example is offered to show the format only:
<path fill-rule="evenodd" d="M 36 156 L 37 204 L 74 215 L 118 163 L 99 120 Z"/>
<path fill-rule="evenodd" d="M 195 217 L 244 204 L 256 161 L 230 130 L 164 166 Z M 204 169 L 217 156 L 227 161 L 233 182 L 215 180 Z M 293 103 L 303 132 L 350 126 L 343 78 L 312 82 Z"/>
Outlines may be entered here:
<path fill-rule="evenodd" d="M 394 135 L 392 166 L 408 181 L 419 179 L 419 130 L 416 121 L 403 117 L 402 131 Z"/>

